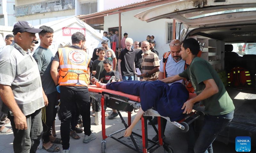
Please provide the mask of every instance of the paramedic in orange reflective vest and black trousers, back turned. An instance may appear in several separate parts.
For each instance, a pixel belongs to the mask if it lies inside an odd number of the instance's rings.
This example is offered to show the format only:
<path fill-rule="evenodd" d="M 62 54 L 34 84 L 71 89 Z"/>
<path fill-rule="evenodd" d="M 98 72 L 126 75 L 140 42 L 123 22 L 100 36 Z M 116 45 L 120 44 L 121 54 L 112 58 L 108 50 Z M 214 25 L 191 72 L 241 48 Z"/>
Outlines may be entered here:
<path fill-rule="evenodd" d="M 88 92 L 91 57 L 82 49 L 85 43 L 83 33 L 76 32 L 71 36 L 72 46 L 59 48 L 52 61 L 51 76 L 60 88 L 60 135 L 62 152 L 69 152 L 69 133 L 71 112 L 76 111 L 76 105 L 83 117 L 84 143 L 96 139 L 91 132 L 90 96 Z M 59 76 L 58 76 L 59 68 Z"/>

